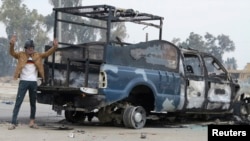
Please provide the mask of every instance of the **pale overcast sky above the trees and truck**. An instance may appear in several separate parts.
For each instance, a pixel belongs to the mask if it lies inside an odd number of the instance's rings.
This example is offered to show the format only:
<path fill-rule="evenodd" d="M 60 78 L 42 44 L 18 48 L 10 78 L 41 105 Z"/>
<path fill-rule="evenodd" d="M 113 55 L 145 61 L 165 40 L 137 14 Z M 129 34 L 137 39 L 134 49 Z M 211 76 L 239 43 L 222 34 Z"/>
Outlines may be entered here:
<path fill-rule="evenodd" d="M 24 0 L 24 3 L 43 15 L 50 14 L 53 8 L 48 0 Z M 201 36 L 206 32 L 213 36 L 227 35 L 236 49 L 223 58 L 235 57 L 238 69 L 250 63 L 250 0 L 83 0 L 82 3 L 100 4 L 164 17 L 163 39 L 168 41 L 173 38 L 185 41 L 191 32 Z M 5 35 L 2 28 L 0 25 L 0 37 Z M 132 41 L 139 38 L 133 34 L 129 37 Z"/>

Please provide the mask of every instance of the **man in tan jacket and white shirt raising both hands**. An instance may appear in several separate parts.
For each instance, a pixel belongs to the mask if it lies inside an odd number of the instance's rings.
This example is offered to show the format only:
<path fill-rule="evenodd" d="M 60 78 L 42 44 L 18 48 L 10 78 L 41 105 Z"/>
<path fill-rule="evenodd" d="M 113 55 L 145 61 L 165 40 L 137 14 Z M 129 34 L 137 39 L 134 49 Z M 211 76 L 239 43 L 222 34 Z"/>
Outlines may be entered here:
<path fill-rule="evenodd" d="M 16 36 L 13 35 L 10 40 L 10 55 L 17 59 L 17 66 L 14 73 L 14 79 L 19 78 L 16 103 L 13 109 L 11 126 L 9 130 L 13 130 L 17 126 L 17 116 L 22 105 L 23 99 L 27 91 L 29 91 L 30 100 L 30 122 L 29 127 L 38 129 L 35 124 L 36 114 L 36 97 L 37 97 L 37 79 L 38 76 L 44 79 L 44 68 L 42 60 L 52 53 L 58 47 L 58 41 L 54 39 L 53 47 L 44 53 L 38 53 L 34 50 L 33 40 L 27 40 L 24 45 L 25 51 L 15 52 L 14 46 Z"/>

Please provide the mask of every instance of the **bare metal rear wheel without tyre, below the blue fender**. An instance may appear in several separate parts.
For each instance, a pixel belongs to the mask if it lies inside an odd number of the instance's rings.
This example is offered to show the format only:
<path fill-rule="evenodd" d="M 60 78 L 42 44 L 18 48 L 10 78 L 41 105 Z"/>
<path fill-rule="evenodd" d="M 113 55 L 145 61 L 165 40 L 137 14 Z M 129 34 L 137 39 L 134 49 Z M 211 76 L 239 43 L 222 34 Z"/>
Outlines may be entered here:
<path fill-rule="evenodd" d="M 123 112 L 123 123 L 127 128 L 143 128 L 146 124 L 146 119 L 146 111 L 142 106 L 129 106 Z"/>

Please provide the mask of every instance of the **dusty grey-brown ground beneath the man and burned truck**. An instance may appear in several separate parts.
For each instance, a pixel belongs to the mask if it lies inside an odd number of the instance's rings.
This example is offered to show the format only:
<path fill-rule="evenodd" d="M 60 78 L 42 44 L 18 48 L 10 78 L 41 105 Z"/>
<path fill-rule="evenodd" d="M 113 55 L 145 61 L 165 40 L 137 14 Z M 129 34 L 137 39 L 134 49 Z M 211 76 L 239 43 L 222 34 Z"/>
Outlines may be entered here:
<path fill-rule="evenodd" d="M 19 112 L 19 125 L 10 125 L 17 84 L 0 83 L 0 141 L 207 141 L 206 124 L 146 125 L 143 129 L 104 126 L 94 122 L 71 124 L 57 115 L 50 105 L 37 104 L 36 123 L 39 129 L 28 127 L 29 103 L 26 100 Z"/>

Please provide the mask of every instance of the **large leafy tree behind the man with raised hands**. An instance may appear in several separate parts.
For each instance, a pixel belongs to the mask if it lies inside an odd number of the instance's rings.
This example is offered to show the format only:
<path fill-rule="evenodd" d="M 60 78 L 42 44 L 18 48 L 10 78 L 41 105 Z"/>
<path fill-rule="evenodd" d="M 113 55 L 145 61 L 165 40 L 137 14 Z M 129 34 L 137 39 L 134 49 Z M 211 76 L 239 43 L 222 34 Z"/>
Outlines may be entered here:
<path fill-rule="evenodd" d="M 22 50 L 27 39 L 33 39 L 36 50 L 42 51 L 44 45 L 49 41 L 44 17 L 38 14 L 37 10 L 29 10 L 22 2 L 23 0 L 2 0 L 0 7 L 0 22 L 5 25 L 7 34 L 6 39 L 1 39 L 1 48 L 2 46 L 7 48 L 1 49 L 1 57 L 7 59 L 2 68 L 9 69 L 9 71 L 4 72 L 5 75 L 12 74 L 11 70 L 16 63 L 6 53 L 6 51 L 8 52 L 8 41 L 13 34 L 17 36 L 16 50 Z M 4 51 L 2 52 L 2 50 Z"/>

